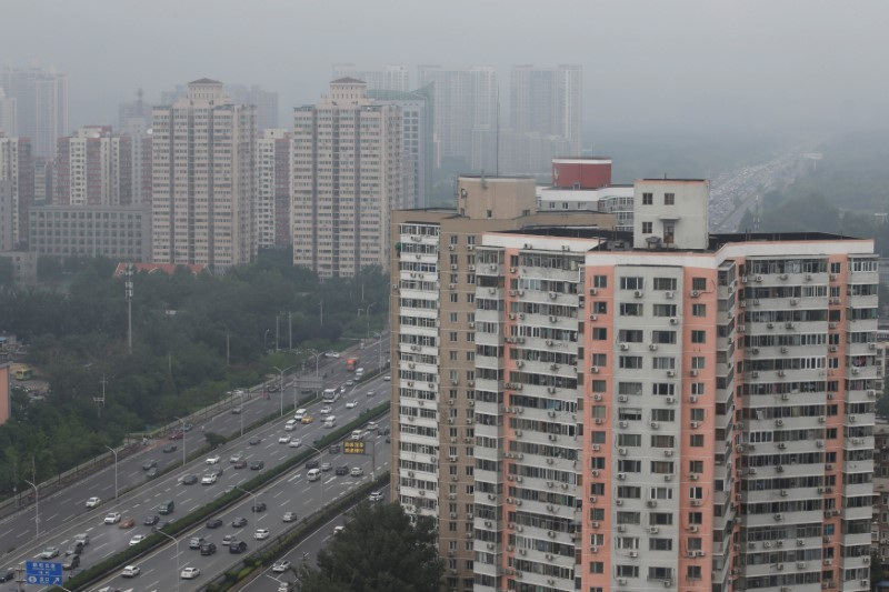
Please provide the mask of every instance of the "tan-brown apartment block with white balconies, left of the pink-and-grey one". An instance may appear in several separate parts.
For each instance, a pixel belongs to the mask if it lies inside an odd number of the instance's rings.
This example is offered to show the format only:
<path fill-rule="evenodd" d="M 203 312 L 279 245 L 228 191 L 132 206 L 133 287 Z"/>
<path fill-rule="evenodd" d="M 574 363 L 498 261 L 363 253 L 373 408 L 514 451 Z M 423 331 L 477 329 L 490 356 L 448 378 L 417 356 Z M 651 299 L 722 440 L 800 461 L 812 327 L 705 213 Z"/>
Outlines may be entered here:
<path fill-rule="evenodd" d="M 392 214 L 392 499 L 438 520 L 448 588 L 472 590 L 477 249 L 487 231 L 610 229 L 613 218 L 538 214 L 530 178 L 463 175 L 458 185 L 453 209 Z"/>

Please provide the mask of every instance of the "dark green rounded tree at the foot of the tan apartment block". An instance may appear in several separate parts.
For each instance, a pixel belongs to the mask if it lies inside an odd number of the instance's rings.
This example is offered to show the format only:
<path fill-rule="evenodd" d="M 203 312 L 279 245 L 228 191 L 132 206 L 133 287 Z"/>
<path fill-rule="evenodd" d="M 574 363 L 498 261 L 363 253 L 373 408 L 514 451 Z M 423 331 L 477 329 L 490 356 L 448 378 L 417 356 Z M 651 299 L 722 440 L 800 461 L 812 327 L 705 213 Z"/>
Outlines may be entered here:
<path fill-rule="evenodd" d="M 318 553 L 318 566 L 299 572 L 302 592 L 437 592 L 444 565 L 431 518 L 398 504 L 361 503 L 346 529 Z"/>

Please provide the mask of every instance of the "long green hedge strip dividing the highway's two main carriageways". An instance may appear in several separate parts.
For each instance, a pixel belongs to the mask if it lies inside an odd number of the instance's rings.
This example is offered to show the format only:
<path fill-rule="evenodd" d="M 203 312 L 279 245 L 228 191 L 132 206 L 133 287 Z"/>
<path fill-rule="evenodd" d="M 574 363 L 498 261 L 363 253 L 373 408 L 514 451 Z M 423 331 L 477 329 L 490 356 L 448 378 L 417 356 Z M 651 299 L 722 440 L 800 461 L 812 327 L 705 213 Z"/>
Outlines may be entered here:
<path fill-rule="evenodd" d="M 386 401 L 384 403 L 382 403 L 380 405 L 377 405 L 376 408 L 373 408 L 371 410 L 368 410 L 364 413 L 361 413 L 361 415 L 359 418 L 350 421 L 349 423 L 347 423 L 342 428 L 334 429 L 332 432 L 330 432 L 329 434 L 327 434 L 323 438 L 321 438 L 316 443 L 316 448 L 318 448 L 319 450 L 322 450 L 323 448 L 332 444 L 333 442 L 337 442 L 337 441 L 346 438 L 356 428 L 358 428 L 360 425 L 363 425 L 364 423 L 367 423 L 367 422 L 369 422 L 369 421 L 371 421 L 373 419 L 377 419 L 380 415 L 383 415 L 389 410 L 389 405 L 390 405 L 389 401 Z M 260 474 L 258 474 L 253 479 L 247 481 L 246 483 L 242 483 L 239 486 L 241 489 L 247 490 L 247 491 L 254 491 L 256 492 L 258 489 L 260 489 L 263 485 L 267 485 L 267 484 L 271 483 L 272 481 L 277 480 L 280 475 L 287 473 L 292 468 L 294 468 L 294 466 L 306 462 L 308 459 L 310 459 L 312 456 L 317 456 L 317 455 L 318 455 L 318 452 L 316 452 L 314 450 L 310 450 L 310 449 L 309 450 L 303 450 L 302 452 L 298 453 L 296 456 L 292 456 L 292 458 L 288 459 L 287 461 L 282 462 L 281 464 L 278 464 L 277 466 L 273 466 L 273 468 L 269 469 L 268 471 L 261 472 Z M 200 522 L 206 521 L 208 518 L 211 518 L 212 515 L 219 513 L 220 511 L 226 510 L 226 509 L 234 505 L 237 502 L 241 501 L 242 499 L 244 499 L 247 496 L 248 496 L 247 493 L 244 493 L 244 492 L 242 492 L 240 490 L 233 490 L 233 491 L 231 491 L 229 493 L 226 493 L 226 494 L 221 495 L 220 498 L 211 501 L 210 503 L 207 503 L 207 504 L 202 505 L 201 508 L 198 508 L 197 510 L 193 510 L 192 512 L 190 512 L 189 514 L 187 514 L 182 519 L 174 521 L 173 523 L 169 524 L 168 526 L 164 526 L 163 528 L 163 532 L 167 533 L 167 534 L 170 534 L 172 536 L 181 534 L 181 533 L 183 533 L 183 532 L 186 532 L 188 530 L 191 530 L 192 528 L 194 528 Z M 88 569 L 83 570 L 82 572 L 80 572 L 76 576 L 71 578 L 66 583 L 66 588 L 68 588 L 69 590 L 74 590 L 74 591 L 84 590 L 84 589 L 89 588 L 90 585 L 97 583 L 102 578 L 104 578 L 108 573 L 110 573 L 112 571 L 116 571 L 116 570 L 119 570 L 123 565 L 132 563 L 133 560 L 136 560 L 136 559 L 138 559 L 138 558 L 140 558 L 140 556 L 142 556 L 142 555 L 144 555 L 147 553 L 149 553 L 150 551 L 154 550 L 156 548 L 158 548 L 158 546 L 160 546 L 162 544 L 166 544 L 167 541 L 168 541 L 168 539 L 166 536 L 161 535 L 161 534 L 157 534 L 157 533 L 151 534 L 150 536 L 148 536 L 148 539 L 146 539 L 144 541 L 142 541 L 138 545 L 131 546 L 129 549 L 124 549 L 123 551 L 120 551 L 120 552 L 111 555 L 110 558 L 101 561 L 100 563 L 93 565 L 92 568 L 88 568 Z M 52 592 L 63 592 L 63 589 L 61 589 L 61 588 L 52 588 L 51 591 Z"/>

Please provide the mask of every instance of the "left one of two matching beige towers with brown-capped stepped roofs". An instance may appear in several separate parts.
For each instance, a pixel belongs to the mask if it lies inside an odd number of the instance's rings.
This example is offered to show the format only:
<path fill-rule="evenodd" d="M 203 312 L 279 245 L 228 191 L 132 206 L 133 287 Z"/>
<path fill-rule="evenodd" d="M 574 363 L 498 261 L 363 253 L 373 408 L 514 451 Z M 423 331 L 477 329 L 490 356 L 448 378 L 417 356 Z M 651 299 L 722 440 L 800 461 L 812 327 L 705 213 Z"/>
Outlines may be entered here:
<path fill-rule="evenodd" d="M 152 260 L 216 270 L 253 254 L 256 109 L 201 79 L 156 107 L 152 122 Z"/>

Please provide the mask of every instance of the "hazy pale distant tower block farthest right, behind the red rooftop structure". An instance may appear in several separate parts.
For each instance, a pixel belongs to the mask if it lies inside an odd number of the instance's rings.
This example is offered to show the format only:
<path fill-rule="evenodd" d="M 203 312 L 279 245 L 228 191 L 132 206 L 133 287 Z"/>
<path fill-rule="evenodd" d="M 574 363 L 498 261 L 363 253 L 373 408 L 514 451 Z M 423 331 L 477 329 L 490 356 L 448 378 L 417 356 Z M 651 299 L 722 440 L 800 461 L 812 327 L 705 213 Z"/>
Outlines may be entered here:
<path fill-rule="evenodd" d="M 570 152 L 567 153 L 579 154 L 582 124 L 582 67 L 516 66 L 512 68 L 509 82 L 512 131 L 561 137 L 568 141 Z"/>

